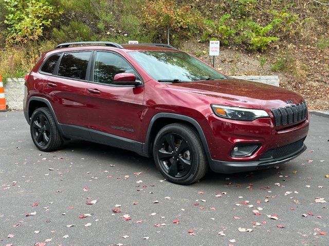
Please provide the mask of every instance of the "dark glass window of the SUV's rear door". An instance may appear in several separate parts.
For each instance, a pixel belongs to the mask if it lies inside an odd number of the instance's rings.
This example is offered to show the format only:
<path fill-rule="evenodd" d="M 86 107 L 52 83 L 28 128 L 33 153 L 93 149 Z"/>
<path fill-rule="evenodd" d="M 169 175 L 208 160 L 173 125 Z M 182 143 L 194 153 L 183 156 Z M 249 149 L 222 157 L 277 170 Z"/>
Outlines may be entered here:
<path fill-rule="evenodd" d="M 89 57 L 92 52 L 66 53 L 61 59 L 58 76 L 85 79 Z"/>

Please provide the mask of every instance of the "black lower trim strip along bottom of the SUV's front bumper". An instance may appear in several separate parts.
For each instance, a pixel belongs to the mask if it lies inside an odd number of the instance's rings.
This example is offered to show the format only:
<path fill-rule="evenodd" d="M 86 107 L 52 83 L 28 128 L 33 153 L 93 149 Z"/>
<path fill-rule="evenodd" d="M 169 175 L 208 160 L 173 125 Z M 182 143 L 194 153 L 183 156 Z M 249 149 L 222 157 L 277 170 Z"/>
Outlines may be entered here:
<path fill-rule="evenodd" d="M 291 153 L 289 156 L 285 156 L 282 159 L 269 159 L 263 161 L 249 161 L 249 162 L 234 162 L 234 161 L 221 161 L 221 160 L 211 160 L 210 166 L 212 171 L 217 173 L 239 173 L 239 172 L 250 172 L 255 170 L 267 169 L 273 166 L 283 164 L 289 160 L 292 160 L 299 156 L 306 150 L 306 146 Z"/>

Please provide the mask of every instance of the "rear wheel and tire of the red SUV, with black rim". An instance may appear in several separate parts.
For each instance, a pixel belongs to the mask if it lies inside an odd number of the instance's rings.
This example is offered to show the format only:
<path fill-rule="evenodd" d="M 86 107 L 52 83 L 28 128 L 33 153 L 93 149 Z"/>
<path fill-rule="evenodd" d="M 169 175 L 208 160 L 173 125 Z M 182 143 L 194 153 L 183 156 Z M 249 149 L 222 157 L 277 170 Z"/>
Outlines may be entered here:
<path fill-rule="evenodd" d="M 33 112 L 30 132 L 34 145 L 41 151 L 54 151 L 63 146 L 63 138 L 48 108 L 38 108 Z"/>

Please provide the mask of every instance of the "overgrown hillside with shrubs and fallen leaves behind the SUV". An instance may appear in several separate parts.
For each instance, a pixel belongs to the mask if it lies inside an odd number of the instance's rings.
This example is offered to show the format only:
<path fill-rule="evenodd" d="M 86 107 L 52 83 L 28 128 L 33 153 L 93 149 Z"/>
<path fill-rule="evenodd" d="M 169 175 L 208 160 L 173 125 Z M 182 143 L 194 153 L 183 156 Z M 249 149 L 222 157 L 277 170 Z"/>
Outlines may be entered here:
<path fill-rule="evenodd" d="M 0 0 L 0 73 L 24 76 L 69 41 L 170 42 L 210 61 L 218 39 L 216 68 L 278 74 L 310 109 L 329 109 L 328 24 L 325 0 Z"/>

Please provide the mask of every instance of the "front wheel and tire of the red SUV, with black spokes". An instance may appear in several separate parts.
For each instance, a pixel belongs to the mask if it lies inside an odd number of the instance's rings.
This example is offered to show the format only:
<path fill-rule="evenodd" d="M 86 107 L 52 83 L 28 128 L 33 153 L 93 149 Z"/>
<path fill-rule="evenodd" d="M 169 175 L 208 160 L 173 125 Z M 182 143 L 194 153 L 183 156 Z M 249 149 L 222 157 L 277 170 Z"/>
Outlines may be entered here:
<path fill-rule="evenodd" d="M 198 134 L 184 124 L 170 124 L 158 132 L 154 140 L 153 156 L 161 174 L 179 185 L 196 182 L 208 169 Z"/>

